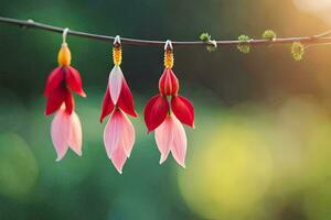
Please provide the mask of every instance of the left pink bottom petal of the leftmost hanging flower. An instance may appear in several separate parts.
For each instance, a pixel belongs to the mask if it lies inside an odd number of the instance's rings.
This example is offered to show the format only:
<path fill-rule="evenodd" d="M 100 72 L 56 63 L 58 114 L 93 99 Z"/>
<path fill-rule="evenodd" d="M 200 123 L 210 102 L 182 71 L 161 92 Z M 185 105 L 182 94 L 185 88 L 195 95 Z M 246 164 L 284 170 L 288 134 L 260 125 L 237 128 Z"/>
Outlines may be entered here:
<path fill-rule="evenodd" d="M 70 116 L 64 109 L 60 109 L 51 125 L 51 136 L 57 154 L 56 161 L 61 161 L 68 150 L 70 128 Z"/>

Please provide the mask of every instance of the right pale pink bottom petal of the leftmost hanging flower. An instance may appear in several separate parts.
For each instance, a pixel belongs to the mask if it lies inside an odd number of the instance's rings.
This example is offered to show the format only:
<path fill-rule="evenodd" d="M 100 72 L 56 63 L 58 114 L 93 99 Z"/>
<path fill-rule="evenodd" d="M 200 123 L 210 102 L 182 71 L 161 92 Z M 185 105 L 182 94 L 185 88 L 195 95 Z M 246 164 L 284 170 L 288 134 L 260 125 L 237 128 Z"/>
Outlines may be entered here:
<path fill-rule="evenodd" d="M 70 147 L 78 155 L 82 156 L 82 124 L 76 112 L 71 116 L 71 128 L 70 128 Z"/>

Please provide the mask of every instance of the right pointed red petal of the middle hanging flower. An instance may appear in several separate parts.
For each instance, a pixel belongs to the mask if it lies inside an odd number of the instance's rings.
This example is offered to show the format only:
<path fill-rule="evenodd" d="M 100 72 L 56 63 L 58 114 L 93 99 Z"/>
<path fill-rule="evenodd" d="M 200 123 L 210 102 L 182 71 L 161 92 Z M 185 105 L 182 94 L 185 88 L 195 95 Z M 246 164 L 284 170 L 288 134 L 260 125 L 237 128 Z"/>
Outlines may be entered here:
<path fill-rule="evenodd" d="M 119 94 L 117 106 L 126 113 L 132 117 L 138 117 L 137 112 L 135 111 L 135 102 L 134 102 L 132 94 L 125 79 L 122 80 L 121 84 L 121 90 Z"/>

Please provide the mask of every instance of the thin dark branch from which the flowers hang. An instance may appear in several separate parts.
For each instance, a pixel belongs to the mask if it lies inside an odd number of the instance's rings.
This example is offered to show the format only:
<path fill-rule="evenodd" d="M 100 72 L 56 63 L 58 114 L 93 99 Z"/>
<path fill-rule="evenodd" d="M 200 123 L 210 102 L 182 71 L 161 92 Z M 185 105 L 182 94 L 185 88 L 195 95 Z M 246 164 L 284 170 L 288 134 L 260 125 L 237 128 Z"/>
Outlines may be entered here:
<path fill-rule="evenodd" d="M 18 20 L 18 19 L 11 19 L 11 18 L 2 18 L 0 16 L 0 23 L 8 23 L 12 25 L 19 25 L 22 28 L 34 28 L 34 29 L 41 29 L 45 31 L 56 32 L 56 33 L 63 33 L 64 29 L 60 26 L 53 26 L 44 23 L 34 22 L 33 20 Z M 114 41 L 115 36 L 107 36 L 107 35 L 100 35 L 100 34 L 93 34 L 87 32 L 81 32 L 81 31 L 74 31 L 70 30 L 67 32 L 68 35 L 75 35 L 75 36 L 82 36 L 86 38 L 95 38 L 100 41 Z M 293 42 L 301 42 L 302 44 L 325 44 L 331 43 L 331 30 L 318 35 L 313 36 L 298 36 L 298 37 L 287 37 L 287 38 L 275 38 L 273 41 L 269 40 L 250 40 L 249 45 L 271 45 L 271 44 L 291 44 Z M 127 38 L 121 37 L 120 38 L 122 44 L 130 44 L 130 45 L 141 45 L 141 46 L 160 46 L 164 45 L 166 41 L 149 41 L 149 40 L 138 40 L 138 38 Z M 239 45 L 242 41 L 216 41 L 217 46 L 235 46 Z M 206 42 L 201 41 L 190 41 L 190 42 L 183 42 L 183 41 L 173 41 L 172 45 L 177 46 L 190 46 L 190 45 L 207 45 Z"/>

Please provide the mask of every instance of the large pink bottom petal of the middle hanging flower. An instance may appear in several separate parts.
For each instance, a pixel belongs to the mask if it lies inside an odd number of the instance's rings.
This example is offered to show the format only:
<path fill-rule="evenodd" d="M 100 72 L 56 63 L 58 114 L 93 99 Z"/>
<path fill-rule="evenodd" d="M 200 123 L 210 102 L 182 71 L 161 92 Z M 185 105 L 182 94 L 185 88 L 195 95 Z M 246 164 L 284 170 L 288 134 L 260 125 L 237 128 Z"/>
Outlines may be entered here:
<path fill-rule="evenodd" d="M 129 119 L 116 109 L 108 120 L 105 132 L 104 143 L 108 157 L 119 173 L 129 157 L 135 142 L 135 130 Z"/>

